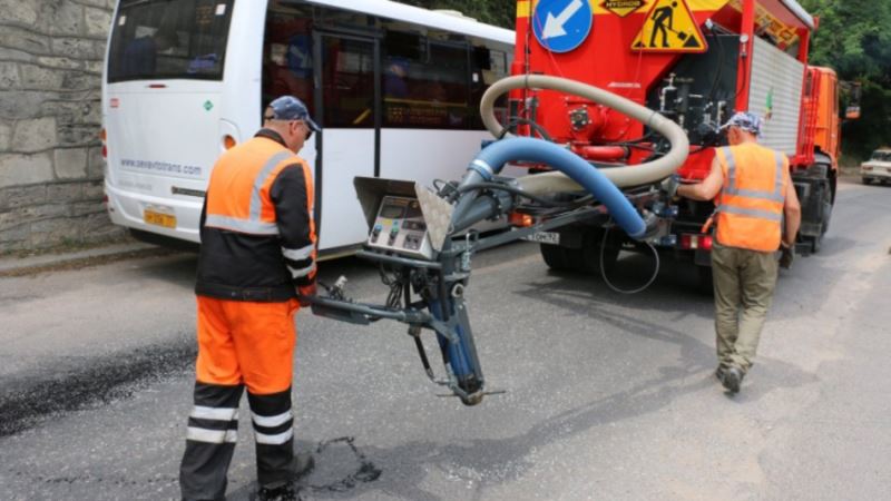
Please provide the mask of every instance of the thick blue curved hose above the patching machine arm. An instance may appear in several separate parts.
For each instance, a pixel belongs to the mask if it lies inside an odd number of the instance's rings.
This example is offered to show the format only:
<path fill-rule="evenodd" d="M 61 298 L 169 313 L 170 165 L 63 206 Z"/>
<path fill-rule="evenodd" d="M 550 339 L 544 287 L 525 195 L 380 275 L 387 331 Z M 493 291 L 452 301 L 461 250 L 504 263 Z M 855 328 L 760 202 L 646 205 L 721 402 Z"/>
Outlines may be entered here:
<path fill-rule="evenodd" d="M 462 184 L 491 180 L 508 161 L 535 161 L 560 170 L 606 205 L 628 236 L 637 238 L 646 233 L 644 219 L 613 181 L 572 151 L 541 139 L 517 137 L 493 143 L 470 163 Z"/>

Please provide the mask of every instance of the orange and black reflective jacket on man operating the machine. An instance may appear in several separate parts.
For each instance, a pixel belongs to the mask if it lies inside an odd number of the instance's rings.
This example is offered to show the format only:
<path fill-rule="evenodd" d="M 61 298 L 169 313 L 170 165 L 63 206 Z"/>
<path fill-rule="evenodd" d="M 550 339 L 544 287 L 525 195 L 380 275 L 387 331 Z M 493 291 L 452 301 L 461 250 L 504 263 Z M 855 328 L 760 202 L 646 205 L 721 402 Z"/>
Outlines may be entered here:
<path fill-rule="evenodd" d="M 287 301 L 315 279 L 310 167 L 263 129 L 214 166 L 202 213 L 195 292 Z"/>

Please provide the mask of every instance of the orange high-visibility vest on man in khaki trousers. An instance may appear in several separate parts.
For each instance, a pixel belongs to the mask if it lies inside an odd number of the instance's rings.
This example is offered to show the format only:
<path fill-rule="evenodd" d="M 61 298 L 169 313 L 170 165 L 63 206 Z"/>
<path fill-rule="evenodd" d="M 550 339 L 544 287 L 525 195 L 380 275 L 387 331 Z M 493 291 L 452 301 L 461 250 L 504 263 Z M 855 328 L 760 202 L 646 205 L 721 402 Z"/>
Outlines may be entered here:
<path fill-rule="evenodd" d="M 757 144 L 718 148 L 724 187 L 715 199 L 717 242 L 728 247 L 780 248 L 789 159 Z"/>

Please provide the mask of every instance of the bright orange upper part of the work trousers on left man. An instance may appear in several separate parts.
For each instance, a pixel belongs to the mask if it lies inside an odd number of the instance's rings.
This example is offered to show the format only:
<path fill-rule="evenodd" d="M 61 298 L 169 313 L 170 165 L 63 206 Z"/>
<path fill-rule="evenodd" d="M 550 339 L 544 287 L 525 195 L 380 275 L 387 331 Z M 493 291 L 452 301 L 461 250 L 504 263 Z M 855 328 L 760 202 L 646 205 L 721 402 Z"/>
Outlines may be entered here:
<path fill-rule="evenodd" d="M 196 379 L 207 384 L 244 384 L 268 395 L 291 387 L 297 299 L 281 303 L 198 298 Z"/>

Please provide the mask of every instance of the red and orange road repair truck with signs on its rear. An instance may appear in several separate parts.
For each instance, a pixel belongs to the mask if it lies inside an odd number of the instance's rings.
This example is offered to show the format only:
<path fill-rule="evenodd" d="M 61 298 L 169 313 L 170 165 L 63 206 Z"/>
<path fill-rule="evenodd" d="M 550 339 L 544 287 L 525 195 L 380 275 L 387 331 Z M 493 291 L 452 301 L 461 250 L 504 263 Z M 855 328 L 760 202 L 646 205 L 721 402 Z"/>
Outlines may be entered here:
<path fill-rule="evenodd" d="M 840 151 L 835 72 L 807 65 L 817 23 L 794 0 L 520 0 L 511 72 L 578 80 L 676 121 L 691 143 L 678 169 L 686 180 L 708 174 L 715 148 L 726 145 L 719 126 L 734 112 L 764 117 L 761 143 L 789 156 L 802 204 L 796 248 L 815 253 L 832 214 Z M 601 169 L 667 149 L 644 124 L 556 91 L 513 90 L 509 110 L 512 132 L 565 145 Z M 714 205 L 679 199 L 660 210 L 672 223 L 659 250 L 695 262 L 711 284 L 712 236 L 703 226 Z M 635 245 L 608 227 L 600 219 L 540 235 L 542 257 L 552 268 L 608 268 Z"/>

